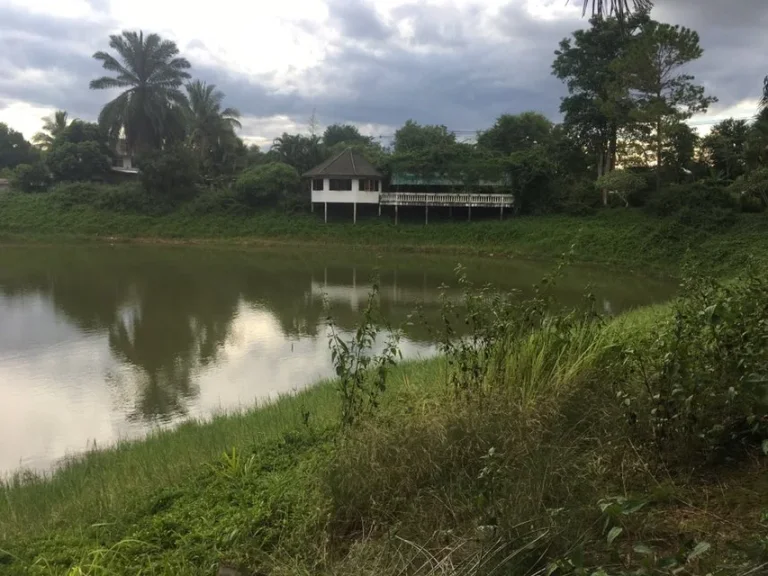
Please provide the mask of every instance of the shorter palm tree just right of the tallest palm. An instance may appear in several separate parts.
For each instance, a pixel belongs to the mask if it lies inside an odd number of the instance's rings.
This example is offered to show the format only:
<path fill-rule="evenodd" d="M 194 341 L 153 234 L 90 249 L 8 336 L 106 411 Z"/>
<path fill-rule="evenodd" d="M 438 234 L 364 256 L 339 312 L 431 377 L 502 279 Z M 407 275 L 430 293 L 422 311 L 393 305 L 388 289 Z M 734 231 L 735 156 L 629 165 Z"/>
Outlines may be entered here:
<path fill-rule="evenodd" d="M 222 109 L 224 93 L 215 84 L 195 80 L 187 84 L 185 108 L 188 142 L 206 174 L 231 172 L 231 160 L 239 154 L 235 128 L 241 128 L 236 108 Z M 240 142 L 242 145 L 242 142 Z"/>

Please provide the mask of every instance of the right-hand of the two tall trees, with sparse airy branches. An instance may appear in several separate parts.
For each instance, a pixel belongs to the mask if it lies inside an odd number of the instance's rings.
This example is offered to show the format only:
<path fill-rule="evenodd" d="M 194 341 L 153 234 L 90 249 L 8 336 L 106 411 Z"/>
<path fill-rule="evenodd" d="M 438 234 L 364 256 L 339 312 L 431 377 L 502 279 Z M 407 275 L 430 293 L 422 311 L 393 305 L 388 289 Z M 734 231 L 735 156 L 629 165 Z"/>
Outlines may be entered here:
<path fill-rule="evenodd" d="M 688 28 L 645 20 L 619 65 L 629 76 L 637 104 L 635 119 L 648 126 L 656 155 L 656 187 L 661 188 L 666 133 L 680 121 L 705 112 L 717 99 L 705 96 L 704 87 L 681 68 L 704 51 L 699 35 Z"/>

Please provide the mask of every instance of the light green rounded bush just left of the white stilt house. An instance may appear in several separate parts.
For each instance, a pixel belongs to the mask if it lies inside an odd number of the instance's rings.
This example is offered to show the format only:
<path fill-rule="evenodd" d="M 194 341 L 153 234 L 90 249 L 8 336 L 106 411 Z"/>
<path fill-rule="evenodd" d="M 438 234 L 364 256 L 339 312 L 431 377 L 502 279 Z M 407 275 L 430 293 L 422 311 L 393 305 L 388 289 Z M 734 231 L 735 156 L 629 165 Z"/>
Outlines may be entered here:
<path fill-rule="evenodd" d="M 275 206 L 297 197 L 300 181 L 292 166 L 270 162 L 240 174 L 235 181 L 235 193 L 250 206 Z"/>

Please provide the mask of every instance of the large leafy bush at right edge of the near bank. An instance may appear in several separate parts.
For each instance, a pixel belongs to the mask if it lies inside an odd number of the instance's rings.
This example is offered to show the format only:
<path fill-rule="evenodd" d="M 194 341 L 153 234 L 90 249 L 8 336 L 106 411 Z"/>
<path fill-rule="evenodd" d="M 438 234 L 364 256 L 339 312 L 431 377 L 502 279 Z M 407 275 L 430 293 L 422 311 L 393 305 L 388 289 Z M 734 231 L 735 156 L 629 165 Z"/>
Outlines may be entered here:
<path fill-rule="evenodd" d="M 768 439 L 766 293 L 755 274 L 728 284 L 690 275 L 657 337 L 625 351 L 642 384 L 619 397 L 667 463 L 733 458 Z"/>

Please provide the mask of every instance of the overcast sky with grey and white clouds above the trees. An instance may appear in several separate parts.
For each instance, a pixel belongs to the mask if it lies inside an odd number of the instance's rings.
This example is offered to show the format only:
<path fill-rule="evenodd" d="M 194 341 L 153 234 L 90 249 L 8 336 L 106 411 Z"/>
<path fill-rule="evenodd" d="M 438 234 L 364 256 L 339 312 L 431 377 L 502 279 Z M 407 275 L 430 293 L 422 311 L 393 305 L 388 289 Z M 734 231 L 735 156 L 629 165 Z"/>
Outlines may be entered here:
<path fill-rule="evenodd" d="M 27 138 L 55 109 L 95 120 L 112 96 L 90 91 L 109 34 L 174 40 L 195 77 L 243 113 L 241 136 L 268 144 L 356 124 L 385 139 L 407 119 L 471 136 L 501 113 L 560 119 L 553 52 L 586 26 L 580 0 L 0 0 L 0 122 Z M 767 0 L 658 0 L 653 16 L 699 32 L 692 66 L 719 118 L 754 114 L 768 74 Z"/>

